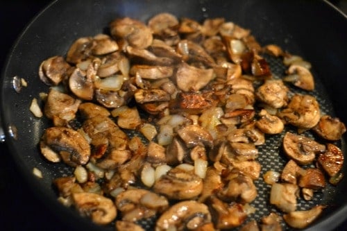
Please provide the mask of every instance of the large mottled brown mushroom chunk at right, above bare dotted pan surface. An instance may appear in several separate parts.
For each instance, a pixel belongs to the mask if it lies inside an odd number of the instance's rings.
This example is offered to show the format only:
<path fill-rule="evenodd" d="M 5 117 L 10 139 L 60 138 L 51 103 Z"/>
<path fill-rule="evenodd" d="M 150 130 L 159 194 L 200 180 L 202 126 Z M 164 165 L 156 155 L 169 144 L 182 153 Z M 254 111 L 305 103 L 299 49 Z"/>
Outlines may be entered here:
<path fill-rule="evenodd" d="M 321 119 L 319 103 L 314 96 L 296 94 L 278 117 L 298 128 L 313 128 Z"/>

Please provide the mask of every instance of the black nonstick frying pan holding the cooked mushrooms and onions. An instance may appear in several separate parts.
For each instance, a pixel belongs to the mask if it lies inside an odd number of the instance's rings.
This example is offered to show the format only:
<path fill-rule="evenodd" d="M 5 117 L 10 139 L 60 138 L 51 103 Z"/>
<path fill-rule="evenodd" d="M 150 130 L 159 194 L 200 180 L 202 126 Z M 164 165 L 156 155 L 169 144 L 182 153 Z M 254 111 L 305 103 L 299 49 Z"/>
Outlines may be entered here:
<path fill-rule="evenodd" d="M 46 162 L 37 149 L 44 128 L 50 125 L 46 119 L 33 117 L 28 110 L 31 99 L 38 97 L 39 92 L 48 90 L 37 78 L 40 62 L 53 55 L 65 55 L 71 42 L 78 37 L 107 32 L 108 23 L 116 17 L 128 16 L 146 22 L 163 11 L 171 12 L 178 18 L 190 17 L 200 22 L 207 17 L 225 17 L 251 29 L 260 44 L 275 43 L 291 53 L 301 55 L 312 63 L 312 72 L 318 83 L 313 94 L 323 109 L 347 122 L 347 111 L 344 110 L 347 99 L 347 19 L 327 1 L 53 1 L 33 19 L 8 55 L 1 75 L 0 118 L 6 145 L 17 169 L 35 189 L 35 194 L 71 230 L 113 228 L 94 225 L 56 200 L 56 191 L 51 182 L 57 176 L 71 173 L 71 169 L 64 164 Z M 12 85 L 14 76 L 24 78 L 28 87 L 15 92 Z M 344 139 L 339 145 L 346 153 Z M 267 148 L 273 149 L 272 146 Z M 268 149 L 265 147 L 264 150 Z M 271 167 L 271 163 L 269 165 Z M 44 178 L 33 176 L 34 167 L 42 171 Z M 347 214 L 346 192 L 346 178 L 337 187 L 326 189 L 319 200 L 329 207 L 307 230 L 332 230 L 344 221 Z"/>

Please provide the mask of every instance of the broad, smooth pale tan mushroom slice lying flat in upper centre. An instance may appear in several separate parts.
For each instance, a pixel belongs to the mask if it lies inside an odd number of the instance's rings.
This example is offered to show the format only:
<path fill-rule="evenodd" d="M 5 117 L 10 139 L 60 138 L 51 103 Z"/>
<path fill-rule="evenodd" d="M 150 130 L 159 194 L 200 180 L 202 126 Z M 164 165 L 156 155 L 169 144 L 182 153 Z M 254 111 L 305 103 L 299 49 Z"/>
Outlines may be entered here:
<path fill-rule="evenodd" d="M 198 91 L 214 78 L 213 69 L 200 69 L 185 62 L 178 65 L 176 72 L 177 87 L 183 92 Z"/>

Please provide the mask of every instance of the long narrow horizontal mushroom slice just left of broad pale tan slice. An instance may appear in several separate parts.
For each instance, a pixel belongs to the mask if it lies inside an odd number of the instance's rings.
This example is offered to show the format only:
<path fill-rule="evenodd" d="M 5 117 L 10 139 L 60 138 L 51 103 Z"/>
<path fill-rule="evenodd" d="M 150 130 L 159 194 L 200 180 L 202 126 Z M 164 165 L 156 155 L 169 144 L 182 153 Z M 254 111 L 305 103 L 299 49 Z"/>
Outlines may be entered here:
<path fill-rule="evenodd" d="M 164 66 L 133 65 L 130 68 L 130 74 L 133 76 L 139 75 L 144 79 L 155 80 L 172 76 L 172 74 L 174 74 L 174 68 Z"/>

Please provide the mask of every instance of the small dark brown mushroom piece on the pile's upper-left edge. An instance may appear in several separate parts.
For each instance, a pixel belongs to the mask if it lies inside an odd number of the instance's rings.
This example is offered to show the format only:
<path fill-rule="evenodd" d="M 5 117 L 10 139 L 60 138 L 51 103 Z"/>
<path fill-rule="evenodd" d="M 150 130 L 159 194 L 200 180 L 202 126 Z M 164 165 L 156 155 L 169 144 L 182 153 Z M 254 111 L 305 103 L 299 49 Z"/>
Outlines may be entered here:
<path fill-rule="evenodd" d="M 76 40 L 67 51 L 67 62 L 77 64 L 91 57 L 93 47 L 92 37 L 81 37 Z"/>

